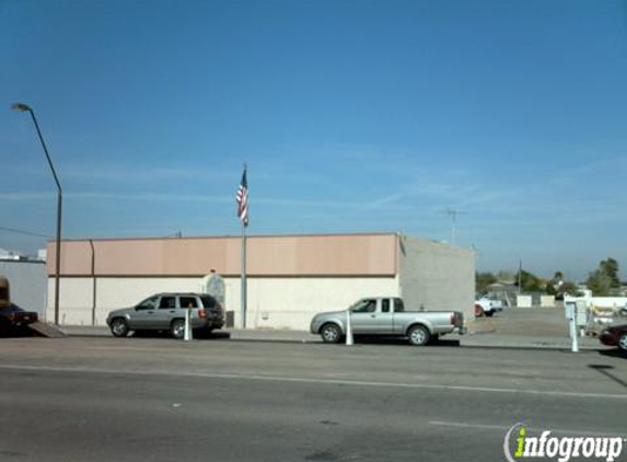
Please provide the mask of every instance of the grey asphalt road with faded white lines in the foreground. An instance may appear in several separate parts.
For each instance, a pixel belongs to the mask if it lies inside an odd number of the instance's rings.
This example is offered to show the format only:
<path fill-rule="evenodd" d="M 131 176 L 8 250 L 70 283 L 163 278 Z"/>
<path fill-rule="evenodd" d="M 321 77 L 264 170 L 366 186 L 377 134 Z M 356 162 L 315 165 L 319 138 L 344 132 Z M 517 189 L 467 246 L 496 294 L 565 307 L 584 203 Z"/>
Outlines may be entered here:
<path fill-rule="evenodd" d="M 8 338 L 0 461 L 503 461 L 516 423 L 626 437 L 626 359 L 454 344 Z"/>

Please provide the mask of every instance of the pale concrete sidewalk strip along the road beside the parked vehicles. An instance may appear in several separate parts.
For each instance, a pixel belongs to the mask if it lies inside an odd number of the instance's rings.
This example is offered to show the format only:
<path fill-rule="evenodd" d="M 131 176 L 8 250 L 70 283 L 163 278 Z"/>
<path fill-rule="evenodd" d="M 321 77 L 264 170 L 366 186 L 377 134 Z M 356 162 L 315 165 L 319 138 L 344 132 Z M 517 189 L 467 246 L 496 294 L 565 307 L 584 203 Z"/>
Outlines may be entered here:
<path fill-rule="evenodd" d="M 72 336 L 94 336 L 111 337 L 107 327 L 92 326 L 62 326 L 69 337 Z M 271 331 L 271 330 L 224 330 L 216 331 L 216 337 L 230 338 L 240 342 L 275 342 L 275 343 L 322 343 L 320 335 L 310 334 L 306 331 Z M 513 335 L 497 332 L 477 332 L 467 335 L 448 335 L 444 340 L 458 340 L 462 347 L 474 348 L 530 348 L 530 349 L 559 349 L 570 350 L 570 338 L 555 335 Z M 359 337 L 357 342 L 359 344 Z M 579 338 L 581 350 L 607 349 L 596 338 Z"/>

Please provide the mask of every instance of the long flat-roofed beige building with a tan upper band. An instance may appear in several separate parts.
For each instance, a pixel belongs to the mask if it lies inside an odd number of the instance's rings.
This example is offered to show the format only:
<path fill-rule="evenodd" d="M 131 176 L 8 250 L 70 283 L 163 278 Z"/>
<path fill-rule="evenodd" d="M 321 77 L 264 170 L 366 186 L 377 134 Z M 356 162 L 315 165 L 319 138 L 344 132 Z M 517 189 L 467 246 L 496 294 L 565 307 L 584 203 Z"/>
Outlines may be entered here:
<path fill-rule="evenodd" d="M 241 238 L 63 241 L 59 321 L 104 325 L 111 310 L 156 292 L 199 291 L 211 269 L 241 319 Z M 55 243 L 48 244 L 54 319 Z M 306 330 L 314 313 L 363 297 L 399 296 L 413 310 L 473 313 L 474 252 L 396 233 L 248 236 L 248 328 Z"/>

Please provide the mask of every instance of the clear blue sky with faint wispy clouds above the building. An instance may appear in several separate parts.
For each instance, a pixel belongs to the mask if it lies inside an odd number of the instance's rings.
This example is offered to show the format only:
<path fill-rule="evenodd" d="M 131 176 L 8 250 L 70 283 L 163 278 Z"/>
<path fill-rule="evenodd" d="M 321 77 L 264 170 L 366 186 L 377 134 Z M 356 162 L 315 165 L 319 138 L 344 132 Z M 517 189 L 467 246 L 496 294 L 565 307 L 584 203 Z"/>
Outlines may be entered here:
<path fill-rule="evenodd" d="M 398 231 L 480 270 L 627 265 L 623 0 L 0 0 L 0 227 Z M 1 109 L 1 108 L 4 109 Z M 45 240 L 0 230 L 0 247 Z"/>

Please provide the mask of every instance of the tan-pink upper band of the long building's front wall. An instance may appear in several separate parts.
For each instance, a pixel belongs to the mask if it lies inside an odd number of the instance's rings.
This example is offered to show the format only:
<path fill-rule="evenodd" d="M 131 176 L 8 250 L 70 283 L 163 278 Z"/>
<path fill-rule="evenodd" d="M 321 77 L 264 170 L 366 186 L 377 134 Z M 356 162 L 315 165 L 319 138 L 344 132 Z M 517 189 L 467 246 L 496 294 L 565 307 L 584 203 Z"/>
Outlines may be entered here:
<path fill-rule="evenodd" d="M 394 276 L 396 234 L 248 236 L 248 276 Z M 222 276 L 241 274 L 240 238 L 63 241 L 63 276 Z M 48 243 L 48 274 L 55 242 Z"/>

